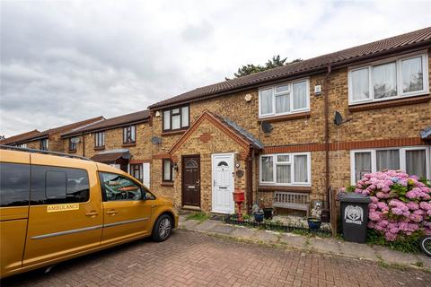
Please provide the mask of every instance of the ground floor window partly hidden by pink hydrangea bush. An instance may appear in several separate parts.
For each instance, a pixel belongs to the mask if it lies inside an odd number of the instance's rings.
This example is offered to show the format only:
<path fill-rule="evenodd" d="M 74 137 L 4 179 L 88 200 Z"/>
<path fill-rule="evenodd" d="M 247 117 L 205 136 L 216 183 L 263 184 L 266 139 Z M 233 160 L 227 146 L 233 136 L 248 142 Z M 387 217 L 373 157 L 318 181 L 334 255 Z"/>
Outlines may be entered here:
<path fill-rule="evenodd" d="M 427 146 L 357 150 L 350 153 L 352 184 L 366 173 L 403 170 L 418 178 L 431 178 Z"/>

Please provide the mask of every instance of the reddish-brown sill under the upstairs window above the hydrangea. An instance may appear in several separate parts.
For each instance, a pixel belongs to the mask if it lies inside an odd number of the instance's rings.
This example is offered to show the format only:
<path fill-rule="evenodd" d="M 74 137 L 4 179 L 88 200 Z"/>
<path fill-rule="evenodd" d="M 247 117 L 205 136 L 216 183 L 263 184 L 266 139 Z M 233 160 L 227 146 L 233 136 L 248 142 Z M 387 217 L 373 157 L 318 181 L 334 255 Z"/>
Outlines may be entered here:
<path fill-rule="evenodd" d="M 369 109 L 384 109 L 384 108 L 414 105 L 414 104 L 427 102 L 429 100 L 431 100 L 431 95 L 427 93 L 427 94 L 423 94 L 415 97 L 403 98 L 403 99 L 381 100 L 381 101 L 367 102 L 365 104 L 350 105 L 348 106 L 348 110 L 350 112 L 356 112 L 356 111 L 363 111 L 363 110 L 369 110 Z"/>

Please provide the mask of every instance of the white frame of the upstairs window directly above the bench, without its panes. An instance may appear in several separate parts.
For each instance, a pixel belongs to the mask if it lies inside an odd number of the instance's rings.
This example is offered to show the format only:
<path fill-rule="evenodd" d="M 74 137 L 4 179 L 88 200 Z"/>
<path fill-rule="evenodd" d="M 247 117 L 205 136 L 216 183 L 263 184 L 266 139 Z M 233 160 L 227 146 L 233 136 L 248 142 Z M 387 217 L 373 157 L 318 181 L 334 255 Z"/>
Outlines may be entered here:
<path fill-rule="evenodd" d="M 302 83 L 302 82 L 306 83 L 306 95 L 305 95 L 306 96 L 306 99 L 305 99 L 306 106 L 303 109 L 294 109 L 294 83 Z M 288 91 L 276 92 L 277 87 L 286 86 L 286 85 L 289 87 Z M 262 109 L 261 109 L 262 108 L 261 91 L 266 91 L 266 90 L 272 90 L 272 112 L 268 113 L 268 114 L 262 114 L 262 112 L 261 112 L 262 111 Z M 283 113 L 277 113 L 276 112 L 276 96 L 283 95 L 283 94 L 289 94 L 290 110 L 287 112 L 283 112 Z M 279 83 L 277 85 L 259 88 L 259 118 L 284 116 L 284 115 L 290 115 L 290 114 L 295 114 L 295 113 L 304 112 L 304 111 L 310 111 L 310 79 L 309 78 L 303 78 L 303 79 L 298 79 L 298 80 L 295 80 L 292 82 Z"/>

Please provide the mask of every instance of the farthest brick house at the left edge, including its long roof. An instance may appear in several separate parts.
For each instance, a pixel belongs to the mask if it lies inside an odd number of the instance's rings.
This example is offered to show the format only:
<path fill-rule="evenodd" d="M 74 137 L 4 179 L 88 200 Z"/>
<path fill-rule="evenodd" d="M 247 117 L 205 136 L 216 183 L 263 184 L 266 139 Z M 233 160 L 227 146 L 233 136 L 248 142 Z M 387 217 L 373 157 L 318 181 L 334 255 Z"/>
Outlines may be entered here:
<path fill-rule="evenodd" d="M 86 126 L 102 120 L 103 117 L 92 117 L 66 126 L 57 126 L 45 131 L 33 130 L 21 135 L 13 135 L 0 141 L 0 144 L 38 149 L 51 152 L 64 152 L 61 134 L 81 126 Z"/>

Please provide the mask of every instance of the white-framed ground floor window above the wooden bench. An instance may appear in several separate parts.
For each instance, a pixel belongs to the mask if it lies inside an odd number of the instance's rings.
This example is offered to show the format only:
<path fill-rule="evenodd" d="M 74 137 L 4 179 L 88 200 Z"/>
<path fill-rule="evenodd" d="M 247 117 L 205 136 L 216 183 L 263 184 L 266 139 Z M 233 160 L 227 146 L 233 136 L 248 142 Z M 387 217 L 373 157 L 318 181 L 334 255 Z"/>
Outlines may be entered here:
<path fill-rule="evenodd" d="M 260 156 L 259 183 L 276 186 L 310 186 L 311 153 L 277 153 Z"/>

